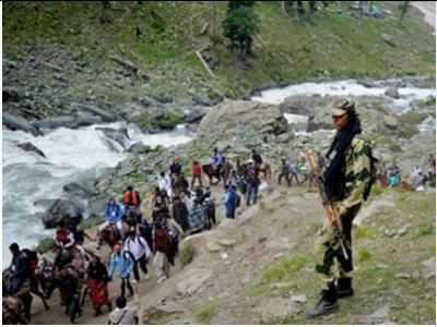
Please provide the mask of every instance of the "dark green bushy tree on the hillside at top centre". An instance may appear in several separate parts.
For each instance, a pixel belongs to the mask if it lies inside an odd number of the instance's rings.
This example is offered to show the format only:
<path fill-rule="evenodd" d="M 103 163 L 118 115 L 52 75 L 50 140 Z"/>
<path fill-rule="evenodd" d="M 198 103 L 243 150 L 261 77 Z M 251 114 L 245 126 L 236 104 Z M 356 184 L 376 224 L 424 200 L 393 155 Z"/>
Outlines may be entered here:
<path fill-rule="evenodd" d="M 243 58 L 252 53 L 253 36 L 259 32 L 259 19 L 255 13 L 256 1 L 229 1 L 223 22 L 231 51 L 239 50 Z"/>

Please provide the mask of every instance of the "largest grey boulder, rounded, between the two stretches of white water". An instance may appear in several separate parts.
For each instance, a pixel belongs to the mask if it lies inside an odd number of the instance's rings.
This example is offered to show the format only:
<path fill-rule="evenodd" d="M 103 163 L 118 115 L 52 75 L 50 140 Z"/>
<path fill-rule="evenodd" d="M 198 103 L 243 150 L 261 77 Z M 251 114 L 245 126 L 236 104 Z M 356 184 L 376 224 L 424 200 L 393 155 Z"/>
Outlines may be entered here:
<path fill-rule="evenodd" d="M 224 140 L 238 134 L 241 126 L 258 134 L 282 134 L 288 130 L 276 106 L 244 100 L 225 100 L 213 107 L 199 125 L 199 137 Z"/>

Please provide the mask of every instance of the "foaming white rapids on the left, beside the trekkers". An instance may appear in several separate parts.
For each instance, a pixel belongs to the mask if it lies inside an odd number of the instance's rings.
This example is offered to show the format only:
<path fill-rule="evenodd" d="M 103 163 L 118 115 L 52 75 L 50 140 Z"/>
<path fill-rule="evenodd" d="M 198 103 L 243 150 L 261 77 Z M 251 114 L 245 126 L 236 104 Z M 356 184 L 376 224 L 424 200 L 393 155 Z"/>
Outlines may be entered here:
<path fill-rule="evenodd" d="M 44 211 L 43 207 L 34 206 L 35 201 L 58 198 L 64 184 L 94 179 L 104 168 L 115 167 L 127 157 L 127 153 L 110 150 L 103 132 L 95 130 L 121 126 L 126 124 L 102 124 L 78 130 L 60 128 L 38 137 L 3 128 L 3 265 L 10 257 L 10 243 L 17 242 L 29 247 L 54 233 L 52 230 L 45 230 L 40 218 L 34 216 Z M 128 125 L 128 131 L 131 144 L 142 141 L 145 145 L 168 147 L 191 140 L 184 126 L 160 134 L 143 134 L 134 125 Z M 34 144 L 46 158 L 16 146 L 24 142 Z"/>

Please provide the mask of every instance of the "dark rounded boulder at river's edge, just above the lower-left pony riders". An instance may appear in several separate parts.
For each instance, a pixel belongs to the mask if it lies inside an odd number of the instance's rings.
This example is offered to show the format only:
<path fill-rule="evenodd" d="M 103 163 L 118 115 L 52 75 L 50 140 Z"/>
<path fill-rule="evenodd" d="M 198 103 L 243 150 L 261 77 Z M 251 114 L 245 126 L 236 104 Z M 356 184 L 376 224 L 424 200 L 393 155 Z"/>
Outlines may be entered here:
<path fill-rule="evenodd" d="M 56 228 L 62 219 L 66 223 L 76 225 L 82 220 L 84 207 L 74 199 L 56 199 L 43 214 L 43 223 L 46 228 Z"/>

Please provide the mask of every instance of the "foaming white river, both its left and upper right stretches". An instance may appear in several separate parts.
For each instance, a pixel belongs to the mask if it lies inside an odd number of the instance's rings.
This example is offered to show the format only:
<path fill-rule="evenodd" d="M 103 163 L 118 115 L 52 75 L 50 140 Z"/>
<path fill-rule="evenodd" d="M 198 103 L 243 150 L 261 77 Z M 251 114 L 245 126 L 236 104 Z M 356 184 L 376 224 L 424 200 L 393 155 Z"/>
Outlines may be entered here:
<path fill-rule="evenodd" d="M 353 80 L 303 83 L 283 88 L 272 88 L 261 92 L 252 100 L 280 104 L 292 95 L 340 95 L 340 96 L 383 96 L 387 86 L 365 87 Z M 392 99 L 397 111 L 408 111 L 413 100 L 424 100 L 436 96 L 433 88 L 404 87 L 399 88 L 400 99 Z M 304 122 L 304 117 L 288 114 L 288 120 Z M 101 126 L 120 128 L 121 123 Z M 421 128 L 435 128 L 432 119 Z M 62 185 L 73 181 L 90 180 L 107 167 L 115 167 L 127 154 L 114 153 L 105 145 L 105 136 L 95 131 L 95 126 L 78 130 L 57 129 L 44 136 L 34 137 L 20 131 L 3 129 L 3 265 L 9 261 L 8 246 L 17 242 L 22 246 L 32 246 L 45 235 L 51 235 L 52 230 L 44 230 L 39 218 L 34 214 L 43 208 L 34 206 L 34 202 L 43 198 L 57 198 L 62 195 Z M 305 133 L 305 132 L 304 132 Z M 184 129 L 155 135 L 142 134 L 134 125 L 129 125 L 131 142 L 142 141 L 146 145 L 170 146 L 191 140 Z M 47 158 L 27 153 L 16 145 L 31 142 L 42 149 Z"/>

